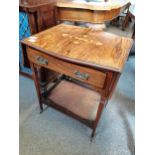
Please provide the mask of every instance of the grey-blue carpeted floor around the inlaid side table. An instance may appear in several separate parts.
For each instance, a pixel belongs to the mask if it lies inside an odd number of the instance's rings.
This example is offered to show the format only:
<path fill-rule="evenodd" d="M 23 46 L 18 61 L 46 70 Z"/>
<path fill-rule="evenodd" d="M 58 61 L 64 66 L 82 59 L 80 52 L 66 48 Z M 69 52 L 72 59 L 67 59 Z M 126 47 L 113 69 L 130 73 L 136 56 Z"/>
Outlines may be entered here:
<path fill-rule="evenodd" d="M 131 36 L 119 28 L 106 31 Z M 20 155 L 134 155 L 135 58 L 129 57 L 117 88 L 90 142 L 91 129 L 47 108 L 39 113 L 32 80 L 20 76 Z"/>

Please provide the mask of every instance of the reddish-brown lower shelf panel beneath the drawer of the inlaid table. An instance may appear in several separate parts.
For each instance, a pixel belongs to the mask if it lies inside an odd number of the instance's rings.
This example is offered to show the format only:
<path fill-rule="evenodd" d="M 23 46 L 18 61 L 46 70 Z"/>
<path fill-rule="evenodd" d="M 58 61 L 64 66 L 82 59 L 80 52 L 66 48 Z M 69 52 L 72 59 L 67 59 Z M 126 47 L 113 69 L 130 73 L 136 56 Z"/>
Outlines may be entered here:
<path fill-rule="evenodd" d="M 93 90 L 62 80 L 48 94 L 48 99 L 83 119 L 94 121 L 101 96 Z"/>

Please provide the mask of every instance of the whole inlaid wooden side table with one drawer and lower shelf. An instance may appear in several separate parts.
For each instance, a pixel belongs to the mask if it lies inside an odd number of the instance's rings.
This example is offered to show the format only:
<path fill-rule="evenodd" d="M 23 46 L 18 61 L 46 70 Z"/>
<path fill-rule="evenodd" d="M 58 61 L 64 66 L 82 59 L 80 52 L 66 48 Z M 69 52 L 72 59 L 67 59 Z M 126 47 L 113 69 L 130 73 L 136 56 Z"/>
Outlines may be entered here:
<path fill-rule="evenodd" d="M 132 39 L 60 24 L 22 41 L 31 64 L 41 112 L 51 106 L 92 128 L 94 137 L 132 46 Z M 42 91 L 40 67 L 59 72 Z"/>

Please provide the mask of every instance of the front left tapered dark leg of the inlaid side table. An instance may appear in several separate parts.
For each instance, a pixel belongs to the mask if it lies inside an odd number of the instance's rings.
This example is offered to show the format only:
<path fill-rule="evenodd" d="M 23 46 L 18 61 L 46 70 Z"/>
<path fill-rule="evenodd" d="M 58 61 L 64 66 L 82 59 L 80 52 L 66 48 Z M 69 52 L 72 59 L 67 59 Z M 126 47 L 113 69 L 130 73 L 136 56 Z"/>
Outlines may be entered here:
<path fill-rule="evenodd" d="M 37 90 L 38 101 L 39 101 L 39 106 L 40 106 L 40 113 L 42 113 L 43 104 L 41 102 L 41 91 L 40 91 L 39 81 L 37 79 L 37 71 L 36 71 L 36 68 L 34 67 L 33 63 L 30 63 L 30 65 L 31 65 L 31 69 L 32 69 L 32 77 L 33 77 L 35 87 L 36 87 L 36 90 Z"/>

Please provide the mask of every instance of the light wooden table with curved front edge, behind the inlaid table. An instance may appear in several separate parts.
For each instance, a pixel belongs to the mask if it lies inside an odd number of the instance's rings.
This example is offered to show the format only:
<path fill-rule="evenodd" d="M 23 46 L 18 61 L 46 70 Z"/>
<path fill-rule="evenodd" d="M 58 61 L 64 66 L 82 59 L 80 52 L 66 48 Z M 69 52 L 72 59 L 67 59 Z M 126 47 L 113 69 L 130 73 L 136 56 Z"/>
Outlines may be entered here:
<path fill-rule="evenodd" d="M 129 4 L 129 0 L 100 1 L 57 0 L 56 19 L 103 24 L 105 21 L 116 18 Z"/>

